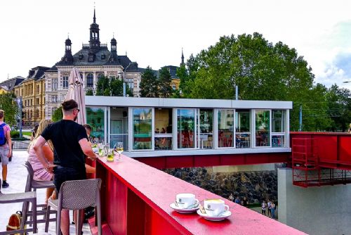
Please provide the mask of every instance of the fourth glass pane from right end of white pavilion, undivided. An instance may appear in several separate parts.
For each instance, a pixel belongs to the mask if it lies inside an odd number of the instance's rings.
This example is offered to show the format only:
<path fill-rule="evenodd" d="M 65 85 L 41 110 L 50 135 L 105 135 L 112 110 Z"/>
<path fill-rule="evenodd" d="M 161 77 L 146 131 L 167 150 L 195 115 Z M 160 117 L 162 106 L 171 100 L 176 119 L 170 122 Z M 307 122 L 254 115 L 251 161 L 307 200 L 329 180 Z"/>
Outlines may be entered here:
<path fill-rule="evenodd" d="M 234 146 L 234 110 L 218 110 L 218 147 Z"/>

